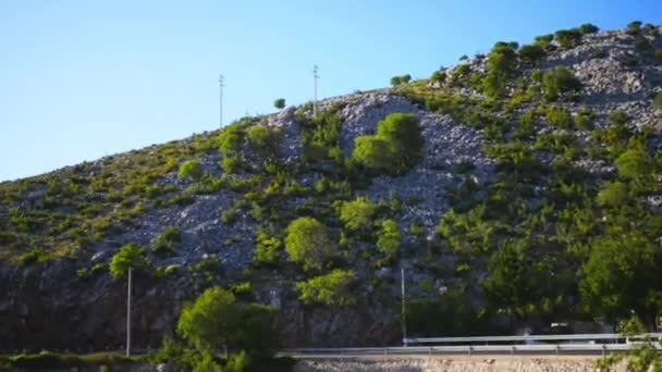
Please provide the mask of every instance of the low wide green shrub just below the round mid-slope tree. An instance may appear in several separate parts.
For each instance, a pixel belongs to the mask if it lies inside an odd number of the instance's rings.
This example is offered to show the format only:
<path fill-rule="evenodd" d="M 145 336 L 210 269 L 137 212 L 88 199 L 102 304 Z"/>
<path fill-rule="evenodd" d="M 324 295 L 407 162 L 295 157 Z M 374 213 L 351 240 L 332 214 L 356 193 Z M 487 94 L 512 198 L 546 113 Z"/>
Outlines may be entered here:
<path fill-rule="evenodd" d="M 356 305 L 356 297 L 352 294 L 355 281 L 353 271 L 336 269 L 327 275 L 297 283 L 296 289 L 301 293 L 298 298 L 304 303 L 346 307 Z"/>

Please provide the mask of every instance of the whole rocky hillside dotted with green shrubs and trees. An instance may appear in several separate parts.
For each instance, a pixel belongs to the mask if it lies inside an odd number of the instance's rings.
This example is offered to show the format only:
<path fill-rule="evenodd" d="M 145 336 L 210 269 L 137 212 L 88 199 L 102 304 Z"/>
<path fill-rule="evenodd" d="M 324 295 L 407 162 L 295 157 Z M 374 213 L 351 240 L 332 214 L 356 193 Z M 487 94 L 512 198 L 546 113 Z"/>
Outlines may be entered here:
<path fill-rule="evenodd" d="M 394 344 L 401 266 L 410 334 L 651 322 L 660 34 L 498 42 L 316 117 L 292 107 L 2 183 L 0 349 L 120 347 L 118 255 L 136 268 L 136 347 L 211 286 L 278 308 L 285 346 Z"/>

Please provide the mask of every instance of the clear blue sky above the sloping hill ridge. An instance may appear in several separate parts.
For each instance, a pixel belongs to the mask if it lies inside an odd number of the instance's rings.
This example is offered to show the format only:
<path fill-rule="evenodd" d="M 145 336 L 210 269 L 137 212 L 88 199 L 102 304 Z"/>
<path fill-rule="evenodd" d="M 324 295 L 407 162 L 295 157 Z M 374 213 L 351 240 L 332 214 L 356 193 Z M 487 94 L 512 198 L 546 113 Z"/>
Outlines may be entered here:
<path fill-rule="evenodd" d="M 662 23 L 661 0 L 0 2 L 0 181 L 320 96 L 427 77 L 498 40 Z"/>

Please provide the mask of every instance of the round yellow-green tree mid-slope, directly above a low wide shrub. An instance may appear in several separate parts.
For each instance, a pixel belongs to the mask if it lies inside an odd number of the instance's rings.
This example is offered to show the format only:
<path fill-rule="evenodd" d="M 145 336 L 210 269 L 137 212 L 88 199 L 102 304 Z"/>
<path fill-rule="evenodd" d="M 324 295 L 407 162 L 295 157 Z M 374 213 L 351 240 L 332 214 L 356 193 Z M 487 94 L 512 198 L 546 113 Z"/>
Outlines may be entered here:
<path fill-rule="evenodd" d="M 312 218 L 299 218 L 287 226 L 285 251 L 304 270 L 321 270 L 335 256 L 336 248 L 323 224 Z"/>

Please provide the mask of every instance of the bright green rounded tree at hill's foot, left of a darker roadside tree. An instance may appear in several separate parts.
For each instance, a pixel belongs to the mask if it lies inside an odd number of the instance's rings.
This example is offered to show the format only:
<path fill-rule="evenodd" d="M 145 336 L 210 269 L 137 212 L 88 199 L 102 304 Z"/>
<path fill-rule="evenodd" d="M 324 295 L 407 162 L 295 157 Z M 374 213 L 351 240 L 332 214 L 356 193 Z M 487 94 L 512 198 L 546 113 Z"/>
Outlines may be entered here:
<path fill-rule="evenodd" d="M 234 295 L 222 288 L 205 290 L 195 302 L 182 310 L 177 333 L 201 350 L 217 350 L 240 328 L 241 309 Z"/>

